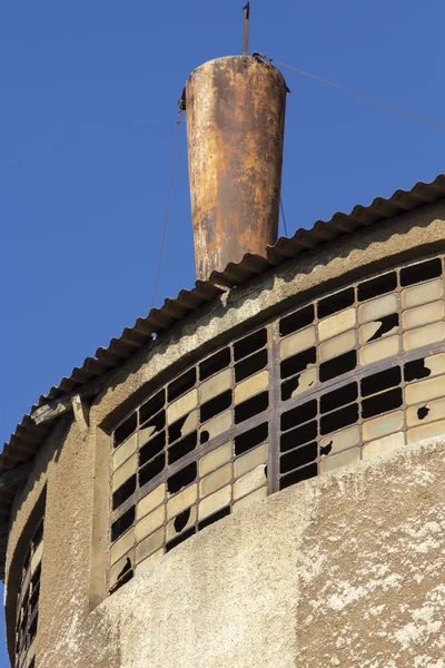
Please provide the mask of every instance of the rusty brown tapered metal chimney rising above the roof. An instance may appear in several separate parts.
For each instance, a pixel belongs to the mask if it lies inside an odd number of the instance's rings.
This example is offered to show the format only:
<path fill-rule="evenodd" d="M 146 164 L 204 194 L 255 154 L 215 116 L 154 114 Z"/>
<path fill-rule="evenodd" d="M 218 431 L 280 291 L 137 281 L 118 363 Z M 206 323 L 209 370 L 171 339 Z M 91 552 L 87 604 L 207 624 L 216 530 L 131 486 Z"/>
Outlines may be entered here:
<path fill-rule="evenodd" d="M 278 233 L 286 84 L 251 56 L 218 58 L 186 84 L 198 278 L 266 254 Z"/>

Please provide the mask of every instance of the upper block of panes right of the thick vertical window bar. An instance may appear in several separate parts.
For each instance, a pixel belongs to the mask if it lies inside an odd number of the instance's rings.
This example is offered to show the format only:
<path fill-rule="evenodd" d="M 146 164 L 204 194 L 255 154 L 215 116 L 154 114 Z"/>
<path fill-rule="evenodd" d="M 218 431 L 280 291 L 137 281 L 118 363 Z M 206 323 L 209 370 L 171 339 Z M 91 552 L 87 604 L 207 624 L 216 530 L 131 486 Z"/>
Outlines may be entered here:
<path fill-rule="evenodd" d="M 441 262 L 433 263 L 442 269 Z M 281 401 L 310 392 L 318 383 L 352 372 L 357 364 L 375 364 L 399 354 L 402 348 L 409 352 L 443 341 L 442 296 L 443 281 L 435 279 L 402 291 L 402 304 L 409 306 L 407 311 L 399 312 L 397 294 L 389 294 L 374 298 L 358 311 L 348 308 L 328 317 L 323 335 L 316 326 L 288 334 L 280 342 Z M 280 324 L 298 313 L 281 318 Z"/>

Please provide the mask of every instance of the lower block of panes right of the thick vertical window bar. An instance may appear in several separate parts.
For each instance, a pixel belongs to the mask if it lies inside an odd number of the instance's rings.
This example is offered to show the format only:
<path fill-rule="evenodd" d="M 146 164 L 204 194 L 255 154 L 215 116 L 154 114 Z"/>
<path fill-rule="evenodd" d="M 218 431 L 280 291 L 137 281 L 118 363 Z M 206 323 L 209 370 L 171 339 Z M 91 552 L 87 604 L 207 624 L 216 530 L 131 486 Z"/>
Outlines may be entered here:
<path fill-rule="evenodd" d="M 280 489 L 362 459 L 360 445 L 369 456 L 383 448 L 382 439 L 387 448 L 404 443 L 405 431 L 408 444 L 437 435 L 445 418 L 444 372 L 445 354 L 437 353 L 406 362 L 403 372 L 397 365 L 354 379 L 283 412 Z M 335 456 L 352 448 L 348 455 Z"/>

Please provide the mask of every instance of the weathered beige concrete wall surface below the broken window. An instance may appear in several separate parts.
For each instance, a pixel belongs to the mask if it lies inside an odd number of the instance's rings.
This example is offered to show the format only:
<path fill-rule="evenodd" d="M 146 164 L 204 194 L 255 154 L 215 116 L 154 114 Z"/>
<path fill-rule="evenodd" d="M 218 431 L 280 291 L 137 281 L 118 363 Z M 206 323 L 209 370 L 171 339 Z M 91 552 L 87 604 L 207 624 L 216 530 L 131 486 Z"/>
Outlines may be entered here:
<path fill-rule="evenodd" d="M 444 446 L 301 483 L 140 569 L 99 608 L 120 666 L 443 668 Z"/>

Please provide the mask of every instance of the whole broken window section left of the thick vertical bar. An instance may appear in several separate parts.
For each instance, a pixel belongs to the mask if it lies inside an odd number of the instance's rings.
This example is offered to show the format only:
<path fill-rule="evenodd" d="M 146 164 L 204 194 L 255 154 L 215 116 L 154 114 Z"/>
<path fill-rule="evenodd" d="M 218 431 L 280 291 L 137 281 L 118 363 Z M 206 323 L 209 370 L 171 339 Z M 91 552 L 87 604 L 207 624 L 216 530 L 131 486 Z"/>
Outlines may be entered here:
<path fill-rule="evenodd" d="M 255 419 L 269 411 L 268 373 L 263 327 L 170 380 L 115 430 L 110 592 L 266 489 L 268 415 Z"/>

